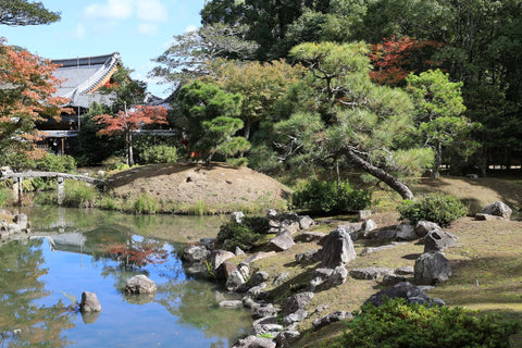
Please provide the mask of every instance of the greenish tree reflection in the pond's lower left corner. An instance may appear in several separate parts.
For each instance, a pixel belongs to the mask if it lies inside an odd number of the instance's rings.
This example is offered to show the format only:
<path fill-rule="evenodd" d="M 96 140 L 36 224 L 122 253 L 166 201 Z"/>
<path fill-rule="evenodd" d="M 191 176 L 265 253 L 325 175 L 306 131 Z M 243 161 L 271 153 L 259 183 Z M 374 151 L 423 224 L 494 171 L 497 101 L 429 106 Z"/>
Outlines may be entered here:
<path fill-rule="evenodd" d="M 49 295 L 38 279 L 48 270 L 41 268 L 42 240 L 28 244 L 0 248 L 0 347 L 65 347 L 62 331 L 74 326 L 73 312 L 61 300 L 50 307 L 34 302 Z"/>

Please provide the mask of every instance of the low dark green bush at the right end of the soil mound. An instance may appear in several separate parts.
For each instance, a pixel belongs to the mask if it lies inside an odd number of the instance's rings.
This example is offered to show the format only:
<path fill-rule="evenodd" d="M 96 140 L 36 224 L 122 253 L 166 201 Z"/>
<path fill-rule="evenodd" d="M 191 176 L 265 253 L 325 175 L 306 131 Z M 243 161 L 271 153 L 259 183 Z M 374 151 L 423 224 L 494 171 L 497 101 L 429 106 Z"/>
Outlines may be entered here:
<path fill-rule="evenodd" d="M 291 196 L 294 208 L 314 213 L 351 212 L 370 207 L 372 194 L 353 189 L 348 181 L 339 183 L 310 181 Z"/>

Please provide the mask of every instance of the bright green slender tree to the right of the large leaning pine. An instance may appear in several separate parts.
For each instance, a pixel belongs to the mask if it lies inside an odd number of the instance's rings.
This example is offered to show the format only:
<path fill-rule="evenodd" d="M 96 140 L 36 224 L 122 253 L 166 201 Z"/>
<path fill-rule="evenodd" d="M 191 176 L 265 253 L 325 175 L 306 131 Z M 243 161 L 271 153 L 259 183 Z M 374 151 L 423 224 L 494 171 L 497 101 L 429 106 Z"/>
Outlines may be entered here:
<path fill-rule="evenodd" d="M 407 82 L 407 90 L 415 104 L 418 133 L 422 141 L 435 150 L 433 170 L 438 172 L 443 162 L 443 149 L 453 144 L 462 145 L 476 127 L 461 115 L 465 111 L 460 91 L 462 83 L 451 83 L 449 75 L 440 70 L 420 75 L 410 74 Z M 468 153 L 463 154 L 470 156 L 476 145 L 471 139 L 467 142 L 463 149 Z"/>

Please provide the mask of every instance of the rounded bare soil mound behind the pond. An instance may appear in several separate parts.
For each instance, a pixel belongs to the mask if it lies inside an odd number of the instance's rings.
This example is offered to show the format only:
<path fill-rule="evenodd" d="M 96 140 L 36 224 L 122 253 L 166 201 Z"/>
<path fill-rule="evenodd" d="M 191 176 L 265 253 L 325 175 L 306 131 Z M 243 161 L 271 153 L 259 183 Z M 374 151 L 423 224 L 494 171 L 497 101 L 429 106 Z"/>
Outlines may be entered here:
<path fill-rule="evenodd" d="M 148 194 L 162 202 L 214 207 L 229 211 L 238 207 L 281 207 L 290 189 L 248 167 L 214 163 L 211 167 L 192 163 L 134 167 L 109 178 L 110 190 L 119 198 Z"/>

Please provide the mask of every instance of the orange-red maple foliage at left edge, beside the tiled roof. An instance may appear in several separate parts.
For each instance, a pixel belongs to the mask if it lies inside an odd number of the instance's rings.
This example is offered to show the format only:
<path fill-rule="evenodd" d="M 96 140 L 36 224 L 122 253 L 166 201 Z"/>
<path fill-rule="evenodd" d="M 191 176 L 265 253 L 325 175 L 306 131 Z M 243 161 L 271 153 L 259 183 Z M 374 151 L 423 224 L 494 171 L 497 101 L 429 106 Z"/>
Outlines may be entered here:
<path fill-rule="evenodd" d="M 41 134 L 35 123 L 58 120 L 69 99 L 53 97 L 61 80 L 52 75 L 58 65 L 50 60 L 16 50 L 0 37 L 0 148 L 23 151 L 36 158 Z"/>

